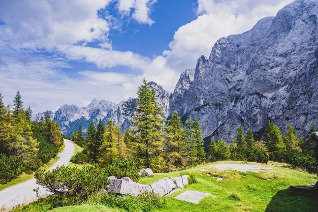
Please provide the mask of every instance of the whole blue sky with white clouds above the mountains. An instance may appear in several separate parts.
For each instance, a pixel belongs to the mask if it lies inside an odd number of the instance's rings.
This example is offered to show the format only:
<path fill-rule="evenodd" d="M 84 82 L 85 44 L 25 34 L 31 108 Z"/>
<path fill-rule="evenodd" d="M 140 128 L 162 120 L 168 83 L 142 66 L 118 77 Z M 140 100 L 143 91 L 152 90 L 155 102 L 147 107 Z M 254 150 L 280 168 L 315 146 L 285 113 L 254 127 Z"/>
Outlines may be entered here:
<path fill-rule="evenodd" d="M 248 31 L 291 0 L 0 0 L 0 93 L 34 113 L 169 92 L 217 39 Z"/>

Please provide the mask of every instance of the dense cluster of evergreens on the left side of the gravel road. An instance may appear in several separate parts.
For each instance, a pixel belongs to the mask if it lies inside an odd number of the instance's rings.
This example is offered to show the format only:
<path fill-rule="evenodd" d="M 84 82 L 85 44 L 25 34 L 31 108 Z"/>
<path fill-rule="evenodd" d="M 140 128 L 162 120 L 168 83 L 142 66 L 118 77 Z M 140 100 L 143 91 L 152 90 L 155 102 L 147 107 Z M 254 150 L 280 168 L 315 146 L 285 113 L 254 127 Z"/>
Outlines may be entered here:
<path fill-rule="evenodd" d="M 24 108 L 20 92 L 13 108 L 3 103 L 0 94 L 0 184 L 33 173 L 58 153 L 62 144 L 60 128 L 48 112 L 40 122 L 32 122 L 32 110 Z"/>

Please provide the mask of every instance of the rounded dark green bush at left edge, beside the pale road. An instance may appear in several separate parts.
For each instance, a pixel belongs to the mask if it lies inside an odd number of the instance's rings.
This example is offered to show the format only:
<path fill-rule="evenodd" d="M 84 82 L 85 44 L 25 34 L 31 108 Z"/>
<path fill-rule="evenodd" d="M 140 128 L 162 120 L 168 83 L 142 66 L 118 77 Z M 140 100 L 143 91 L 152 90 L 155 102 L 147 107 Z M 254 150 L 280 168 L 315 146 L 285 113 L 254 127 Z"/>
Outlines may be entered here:
<path fill-rule="evenodd" d="M 23 172 L 23 161 L 17 156 L 0 154 L 0 184 L 6 184 Z"/>

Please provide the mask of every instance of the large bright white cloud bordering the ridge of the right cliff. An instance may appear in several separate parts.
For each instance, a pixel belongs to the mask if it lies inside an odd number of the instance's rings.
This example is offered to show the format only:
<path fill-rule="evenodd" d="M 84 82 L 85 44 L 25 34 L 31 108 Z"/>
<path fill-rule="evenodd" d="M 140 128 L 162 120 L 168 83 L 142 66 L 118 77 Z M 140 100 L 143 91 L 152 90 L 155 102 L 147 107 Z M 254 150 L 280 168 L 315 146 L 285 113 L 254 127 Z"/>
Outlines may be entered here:
<path fill-rule="evenodd" d="M 161 63 L 151 64 L 154 70 L 161 70 L 158 72 L 163 76 L 157 78 L 164 78 L 167 72 L 173 72 L 170 73 L 173 79 L 169 81 L 174 86 L 183 70 L 194 68 L 201 55 L 210 54 L 217 39 L 248 31 L 258 20 L 274 16 L 290 2 L 291 0 L 198 0 L 198 18 L 179 27 L 173 41 L 169 43 L 170 49 L 158 57 Z M 172 85 L 165 88 L 172 90 Z"/>

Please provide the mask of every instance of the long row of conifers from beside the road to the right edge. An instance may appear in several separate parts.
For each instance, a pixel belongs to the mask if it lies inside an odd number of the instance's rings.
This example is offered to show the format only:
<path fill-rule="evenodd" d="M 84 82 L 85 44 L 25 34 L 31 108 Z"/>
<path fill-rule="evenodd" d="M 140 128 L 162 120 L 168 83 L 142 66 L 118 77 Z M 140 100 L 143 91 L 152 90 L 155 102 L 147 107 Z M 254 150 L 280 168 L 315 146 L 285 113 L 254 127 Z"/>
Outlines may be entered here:
<path fill-rule="evenodd" d="M 315 170 L 312 143 L 299 138 L 292 125 L 289 125 L 287 135 L 282 135 L 278 126 L 268 122 L 261 140 L 256 140 L 251 130 L 244 134 L 243 128 L 238 126 L 230 145 L 225 140 L 211 140 L 205 152 L 198 120 L 188 117 L 183 124 L 178 112 L 174 111 L 165 125 L 163 108 L 156 102 L 155 93 L 146 80 L 138 88 L 136 106 L 132 128 L 124 134 L 111 119 L 106 126 L 101 119 L 97 127 L 91 122 L 86 140 L 82 128 L 75 131 L 72 140 L 83 146 L 84 151 L 73 161 L 106 166 L 118 158 L 131 159 L 139 167 L 166 172 L 219 160 L 259 163 L 272 160 L 287 162 L 310 172 Z M 310 132 L 315 130 L 312 124 Z"/>

